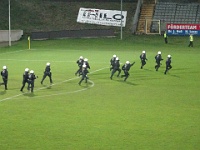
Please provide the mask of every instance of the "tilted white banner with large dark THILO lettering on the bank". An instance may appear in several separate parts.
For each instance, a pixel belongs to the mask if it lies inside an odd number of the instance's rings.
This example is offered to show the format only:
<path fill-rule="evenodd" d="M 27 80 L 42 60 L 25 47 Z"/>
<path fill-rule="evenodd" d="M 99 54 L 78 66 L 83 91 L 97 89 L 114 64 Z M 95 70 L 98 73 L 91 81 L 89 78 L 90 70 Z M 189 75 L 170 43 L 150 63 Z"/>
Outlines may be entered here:
<path fill-rule="evenodd" d="M 125 27 L 127 11 L 80 8 L 77 22 L 105 26 Z"/>

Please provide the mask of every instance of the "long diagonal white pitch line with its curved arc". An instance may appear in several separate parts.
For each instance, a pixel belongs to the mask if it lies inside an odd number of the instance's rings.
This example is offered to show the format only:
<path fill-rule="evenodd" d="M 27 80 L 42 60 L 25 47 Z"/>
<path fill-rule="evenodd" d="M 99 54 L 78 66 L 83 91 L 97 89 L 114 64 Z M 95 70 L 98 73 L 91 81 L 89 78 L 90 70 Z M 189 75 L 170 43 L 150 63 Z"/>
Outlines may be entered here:
<path fill-rule="evenodd" d="M 95 70 L 95 71 L 93 71 L 93 72 L 91 72 L 91 73 L 95 73 L 95 72 L 104 70 L 104 69 L 106 69 L 106 68 L 108 68 L 108 67 Z M 79 78 L 79 77 L 67 79 L 67 80 L 64 80 L 64 81 L 62 81 L 62 82 L 58 82 L 58 83 L 55 83 L 55 84 L 52 84 L 52 85 L 49 85 L 49 86 L 46 86 L 46 87 L 41 87 L 41 88 L 35 89 L 34 91 L 39 91 L 39 90 L 47 89 L 47 88 L 49 88 L 49 87 L 51 87 L 51 86 L 54 86 L 54 85 L 57 85 L 57 84 L 62 84 L 62 83 L 65 83 L 65 82 L 68 82 L 68 81 L 71 81 L 71 80 L 78 79 L 78 78 Z M 91 80 L 89 80 L 89 81 L 92 83 L 92 85 L 91 85 L 90 87 L 94 87 L 94 82 L 91 81 Z M 78 85 L 77 85 L 77 86 L 78 86 Z M 88 88 L 90 88 L 90 87 L 88 87 Z M 66 92 L 66 94 L 82 92 L 82 91 L 84 91 L 84 90 L 87 90 L 88 88 L 81 89 L 81 90 L 76 90 L 76 91 L 71 91 L 71 92 Z M 4 99 L 1 99 L 0 102 L 6 101 L 6 100 L 11 100 L 11 99 L 17 98 L 17 97 L 19 97 L 19 96 L 22 96 L 22 95 L 25 95 L 25 94 L 28 94 L 28 93 L 29 93 L 29 92 L 24 92 L 24 93 L 17 94 L 17 95 L 11 96 L 11 97 L 7 97 L 7 98 L 4 98 Z M 63 94 L 63 93 L 60 93 L 60 94 Z M 54 94 L 52 94 L 51 96 L 53 96 L 53 95 L 54 95 Z M 59 95 L 59 94 L 57 94 L 57 95 Z M 43 95 L 43 96 L 40 96 L 40 97 L 45 97 L 45 96 L 47 96 L 47 95 Z M 38 96 L 38 97 L 39 97 L 39 96 Z"/>

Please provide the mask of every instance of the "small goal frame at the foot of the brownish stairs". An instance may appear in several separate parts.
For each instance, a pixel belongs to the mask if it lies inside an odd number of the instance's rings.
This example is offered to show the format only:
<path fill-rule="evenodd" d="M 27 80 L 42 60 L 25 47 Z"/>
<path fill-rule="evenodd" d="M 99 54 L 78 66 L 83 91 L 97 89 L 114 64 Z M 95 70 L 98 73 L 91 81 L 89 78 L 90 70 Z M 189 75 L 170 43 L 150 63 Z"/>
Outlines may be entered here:
<path fill-rule="evenodd" d="M 161 34 L 160 20 L 146 19 L 145 33 L 146 34 Z"/>

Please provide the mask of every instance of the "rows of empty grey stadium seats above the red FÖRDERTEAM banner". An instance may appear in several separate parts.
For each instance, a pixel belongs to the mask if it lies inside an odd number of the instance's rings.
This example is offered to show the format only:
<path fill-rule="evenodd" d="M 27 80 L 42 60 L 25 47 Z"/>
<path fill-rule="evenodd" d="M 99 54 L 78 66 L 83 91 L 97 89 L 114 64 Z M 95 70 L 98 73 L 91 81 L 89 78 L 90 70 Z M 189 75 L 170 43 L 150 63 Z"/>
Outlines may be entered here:
<path fill-rule="evenodd" d="M 200 4 L 159 1 L 155 5 L 153 19 L 161 21 L 161 31 L 165 30 L 167 23 L 200 24 Z M 157 26 L 153 23 L 151 30 L 156 30 Z"/>

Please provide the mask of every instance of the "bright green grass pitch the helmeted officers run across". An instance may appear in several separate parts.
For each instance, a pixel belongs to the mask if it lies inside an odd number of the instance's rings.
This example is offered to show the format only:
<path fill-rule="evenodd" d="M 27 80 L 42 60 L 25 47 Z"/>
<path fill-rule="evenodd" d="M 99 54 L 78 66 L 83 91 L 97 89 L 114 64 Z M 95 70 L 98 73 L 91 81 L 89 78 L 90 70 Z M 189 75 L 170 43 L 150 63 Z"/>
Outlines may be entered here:
<path fill-rule="evenodd" d="M 200 147 L 200 38 L 189 48 L 188 37 L 125 36 L 101 39 L 26 40 L 0 48 L 0 65 L 9 71 L 8 90 L 0 87 L 1 149 L 188 149 Z M 140 69 L 139 55 L 147 64 Z M 154 56 L 172 55 L 155 71 Z M 130 77 L 110 80 L 109 60 L 136 64 Z M 76 60 L 87 57 L 89 83 L 78 85 Z M 46 62 L 54 84 L 40 84 Z M 21 93 L 24 69 L 39 76 L 34 94 Z"/>

